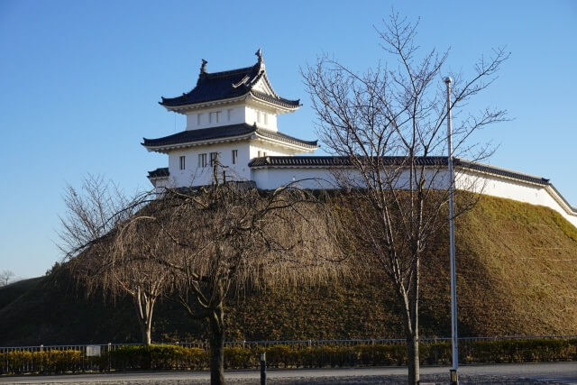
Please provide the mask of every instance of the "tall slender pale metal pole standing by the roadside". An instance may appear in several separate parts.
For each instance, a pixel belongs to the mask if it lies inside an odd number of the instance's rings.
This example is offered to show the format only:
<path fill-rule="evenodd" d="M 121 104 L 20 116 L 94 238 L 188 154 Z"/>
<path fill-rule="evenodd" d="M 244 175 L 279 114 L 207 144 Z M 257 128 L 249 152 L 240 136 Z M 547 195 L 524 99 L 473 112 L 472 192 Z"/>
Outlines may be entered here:
<path fill-rule="evenodd" d="M 453 368 L 451 370 L 451 385 L 459 383 L 457 370 L 459 369 L 459 346 L 457 340 L 457 280 L 455 273 L 454 261 L 454 221 L 453 221 L 453 190 L 454 190 L 454 172 L 453 172 L 453 127 L 451 116 L 451 83 L 452 78 L 444 78 L 447 85 L 447 147 L 448 157 L 447 164 L 449 169 L 449 252 L 451 254 L 451 344 L 453 345 Z"/>

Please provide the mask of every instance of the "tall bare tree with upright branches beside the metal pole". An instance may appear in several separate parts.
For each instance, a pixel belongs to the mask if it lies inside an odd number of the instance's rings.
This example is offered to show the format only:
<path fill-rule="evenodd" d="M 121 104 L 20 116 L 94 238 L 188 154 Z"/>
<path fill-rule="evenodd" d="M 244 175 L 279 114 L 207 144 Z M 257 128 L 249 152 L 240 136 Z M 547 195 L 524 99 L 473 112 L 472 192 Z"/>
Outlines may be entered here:
<path fill-rule="evenodd" d="M 419 380 L 418 303 L 421 257 L 446 225 L 448 200 L 446 94 L 442 75 L 447 52 L 419 56 L 417 23 L 392 14 L 379 32 L 381 47 L 393 61 L 359 75 L 327 57 L 303 72 L 318 116 L 318 132 L 344 168 L 335 173 L 348 191 L 349 208 L 359 229 L 357 240 L 392 283 L 402 307 L 408 343 L 409 383 Z M 453 75 L 454 116 L 495 79 L 508 54 L 495 50 L 481 59 L 470 80 Z M 388 59 L 389 59 L 388 58 Z M 505 111 L 485 109 L 453 124 L 454 153 L 472 160 L 488 155 L 465 140 L 487 124 L 505 119 Z M 465 162 L 463 162 L 465 164 Z M 467 181 L 461 180 L 460 187 Z M 469 183 L 474 183 L 468 180 Z M 472 186 L 468 186 L 472 188 Z M 464 197 L 473 197 L 472 195 Z M 470 208 L 463 201 L 456 215 Z M 456 216 L 455 215 L 455 216 Z"/>

